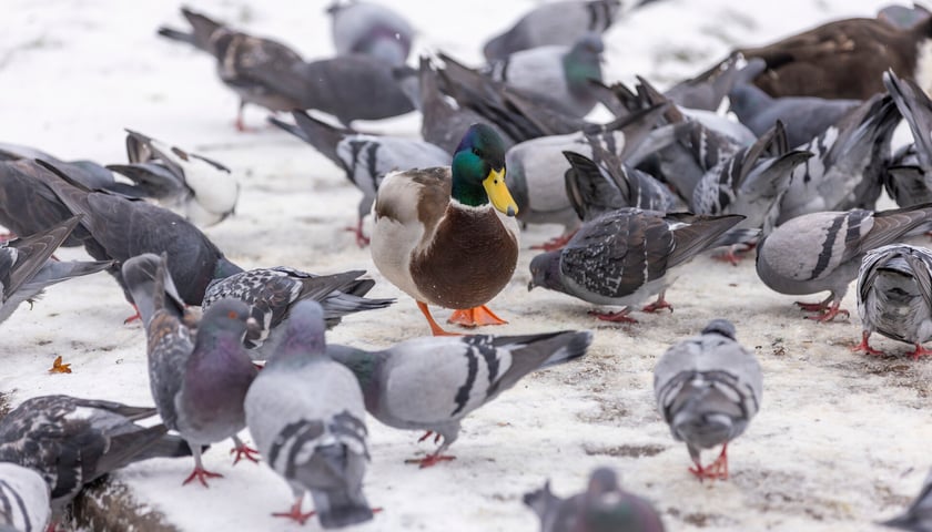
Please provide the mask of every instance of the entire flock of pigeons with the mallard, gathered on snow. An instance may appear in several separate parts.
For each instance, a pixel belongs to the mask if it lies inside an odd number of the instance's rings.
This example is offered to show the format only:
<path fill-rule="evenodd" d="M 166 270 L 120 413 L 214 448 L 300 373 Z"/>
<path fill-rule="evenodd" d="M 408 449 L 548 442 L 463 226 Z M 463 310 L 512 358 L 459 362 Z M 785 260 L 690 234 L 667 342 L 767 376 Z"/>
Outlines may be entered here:
<path fill-rule="evenodd" d="M 932 101 L 916 83 L 929 79 L 919 57 L 932 38 L 928 11 L 891 8 L 738 50 L 666 92 L 644 79 L 604 82 L 600 33 L 619 0 L 536 8 L 486 43 L 482 69 L 443 53 L 407 66 L 412 25 L 383 6 L 328 12 L 337 55 L 314 62 L 189 9 L 190 30 L 159 33 L 214 55 L 241 111 L 290 112 L 294 123 L 270 121 L 346 172 L 363 193 L 358 244 L 433 336 L 379 351 L 327 345 L 343 316 L 395 301 L 366 297 L 374 282 L 361 270 L 229 260 L 197 228 L 231 215 L 239 197 L 219 162 L 134 131 L 128 163 L 108 166 L 0 145 L 0 224 L 19 235 L 0 248 L 0 320 L 51 284 L 107 270 L 144 324 L 155 402 L 44 396 L 0 419 L 0 530 L 40 530 L 85 483 L 149 458 L 192 456 L 184 483 L 206 487 L 220 475 L 201 454 L 227 438 L 236 461 L 262 457 L 292 488 L 292 507 L 275 515 L 302 524 L 317 515 L 324 528 L 373 519 L 366 412 L 443 440 L 412 460 L 436 466 L 453 459 L 445 452 L 472 411 L 586 354 L 588 331 L 460 336 L 430 315 L 439 306 L 463 326 L 504 323 L 486 304 L 511 279 L 519 224 L 566 229 L 540 246 L 528 289 L 624 307 L 594 313 L 601 319 L 636 321 L 631 310 L 652 296 L 645 311 L 672 308 L 665 290 L 691 258 L 721 248 L 735 262 L 756 248 L 768 287 L 829 291 L 801 304 L 818 321 L 848 314 L 840 303 L 857 279 L 859 349 L 879 354 L 869 344 L 879 332 L 911 344 L 913 358 L 930 352 L 932 252 L 900 243 L 932 229 Z M 738 121 L 716 112 L 726 98 Z M 612 122 L 586 121 L 598 103 Z M 423 141 L 351 126 L 415 109 Z M 901 119 L 915 142 L 891 153 Z M 236 125 L 245 129 L 242 113 Z M 874 212 L 884 188 L 901 208 Z M 59 246 L 84 246 L 94 260 L 58 262 Z M 728 478 L 728 444 L 760 408 L 762 387 L 727 320 L 658 359 L 658 409 L 700 480 Z M 136 422 L 156 413 L 161 423 Z M 237 438 L 244 428 L 257 449 Z M 700 452 L 719 446 L 703 464 Z M 313 512 L 302 510 L 307 493 Z M 887 524 L 932 530 L 929 493 Z M 544 532 L 663 530 L 609 469 L 571 499 L 547 484 L 525 503 Z"/>

